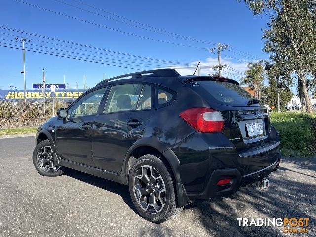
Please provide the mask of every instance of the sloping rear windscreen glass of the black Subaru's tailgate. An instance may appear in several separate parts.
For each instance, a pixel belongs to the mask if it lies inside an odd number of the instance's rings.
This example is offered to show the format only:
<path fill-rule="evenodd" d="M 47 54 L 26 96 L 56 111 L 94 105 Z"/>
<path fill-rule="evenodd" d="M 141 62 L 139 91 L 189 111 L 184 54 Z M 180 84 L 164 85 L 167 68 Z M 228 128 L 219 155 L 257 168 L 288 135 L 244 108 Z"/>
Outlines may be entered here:
<path fill-rule="evenodd" d="M 227 82 L 201 80 L 188 83 L 187 86 L 196 90 L 201 96 L 209 96 L 212 101 L 219 104 L 247 106 L 249 100 L 255 99 L 240 86 Z M 258 104 L 253 104 L 253 106 L 258 106 Z"/>

